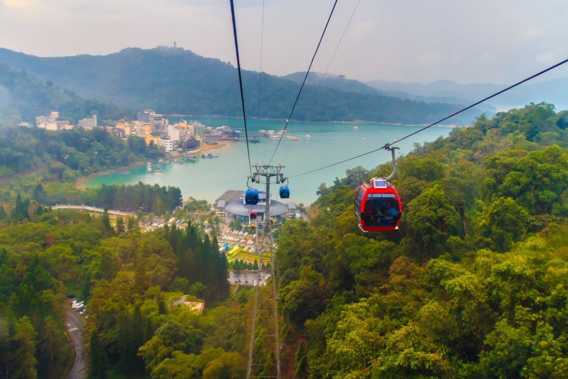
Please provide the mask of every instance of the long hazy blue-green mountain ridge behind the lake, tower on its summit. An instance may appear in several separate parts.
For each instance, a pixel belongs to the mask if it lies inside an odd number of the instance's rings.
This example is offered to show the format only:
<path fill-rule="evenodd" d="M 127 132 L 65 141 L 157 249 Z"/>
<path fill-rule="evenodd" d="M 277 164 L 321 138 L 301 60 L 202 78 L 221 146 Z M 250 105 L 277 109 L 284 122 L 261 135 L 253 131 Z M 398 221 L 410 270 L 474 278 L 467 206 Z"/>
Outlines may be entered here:
<path fill-rule="evenodd" d="M 36 57 L 0 49 L 0 62 L 25 70 L 40 80 L 133 109 L 155 109 L 165 114 L 223 114 L 241 116 L 236 69 L 218 59 L 182 48 L 151 50 L 127 48 L 106 56 Z M 245 103 L 249 116 L 287 118 L 299 84 L 262 74 L 260 112 L 258 73 L 244 71 Z M 308 86 L 294 118 L 302 120 L 315 91 Z M 456 105 L 426 104 L 381 94 L 320 88 L 307 121 L 383 121 L 429 123 L 455 112 Z M 469 125 L 478 110 L 453 119 Z"/>

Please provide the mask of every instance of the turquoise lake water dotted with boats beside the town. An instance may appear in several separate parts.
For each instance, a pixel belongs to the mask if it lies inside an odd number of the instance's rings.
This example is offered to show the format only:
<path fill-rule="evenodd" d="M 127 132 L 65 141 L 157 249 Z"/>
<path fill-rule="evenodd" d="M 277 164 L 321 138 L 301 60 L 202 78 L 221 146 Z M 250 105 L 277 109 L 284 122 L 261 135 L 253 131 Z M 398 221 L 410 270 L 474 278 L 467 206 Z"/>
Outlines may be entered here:
<path fill-rule="evenodd" d="M 232 129 L 243 130 L 239 129 L 243 126 L 243 120 L 239 118 L 195 116 L 184 117 L 184 119 L 188 121 L 197 120 L 205 126 L 228 125 Z M 170 118 L 170 123 L 173 122 L 177 121 Z M 278 120 L 261 120 L 258 122 L 258 127 L 257 120 L 247 123 L 249 133 L 256 133 L 257 130 L 261 129 L 279 131 L 283 129 L 284 125 L 284 121 Z M 357 126 L 358 129 L 353 129 L 353 126 Z M 378 149 L 385 143 L 402 138 L 420 128 L 421 126 L 387 125 L 372 122 L 311 122 L 301 125 L 299 122 L 290 122 L 272 165 L 282 164 L 286 166 L 281 172 L 287 177 L 303 174 Z M 446 137 L 450 130 L 450 127 L 447 126 L 433 126 L 424 130 L 398 143 L 396 146 L 399 146 L 400 150 L 397 151 L 397 154 L 408 154 L 413 149 L 414 142 L 431 142 L 440 136 Z M 242 133 L 244 133 L 244 130 Z M 305 137 L 306 134 L 309 134 L 311 138 Z M 290 141 L 286 138 L 287 135 L 295 135 L 299 138 L 299 141 Z M 366 141 L 362 139 L 364 137 Z M 265 137 L 260 138 L 260 143 L 249 143 L 252 164 L 267 164 L 277 143 L 277 140 L 272 141 Z M 215 199 L 226 190 L 242 189 L 244 191 L 247 189 L 247 176 L 250 175 L 247 144 L 245 142 L 227 142 L 227 144 L 228 146 L 223 149 L 210 151 L 213 155 L 218 155 L 219 158 L 202 159 L 201 153 L 199 153 L 197 162 L 162 164 L 161 172 L 147 172 L 146 164 L 141 164 L 128 169 L 128 172 L 130 172 L 128 175 L 102 175 L 88 180 L 85 185 L 100 187 L 103 183 L 135 184 L 139 181 L 148 184 L 158 183 L 160 186 L 179 187 L 184 199 L 192 196 L 195 199 L 204 199 L 214 203 Z M 289 180 L 290 201 L 306 205 L 311 204 L 318 197 L 316 191 L 320 183 L 327 183 L 329 186 L 336 177 L 343 178 L 345 170 L 348 168 L 363 166 L 369 169 L 378 166 L 378 164 L 389 162 L 390 159 L 390 151 L 379 150 L 376 153 L 312 174 L 291 178 Z M 157 164 L 158 162 L 154 163 Z M 275 191 L 271 192 L 275 193 Z"/>

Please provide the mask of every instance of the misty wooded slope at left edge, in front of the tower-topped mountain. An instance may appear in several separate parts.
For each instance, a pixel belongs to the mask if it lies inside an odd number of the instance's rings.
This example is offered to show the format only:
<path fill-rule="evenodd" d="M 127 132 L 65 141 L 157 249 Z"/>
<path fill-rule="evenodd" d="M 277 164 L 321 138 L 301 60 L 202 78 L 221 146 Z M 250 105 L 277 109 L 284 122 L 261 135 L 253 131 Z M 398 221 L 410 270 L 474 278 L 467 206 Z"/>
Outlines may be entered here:
<path fill-rule="evenodd" d="M 20 121 L 35 124 L 36 116 L 52 110 L 59 110 L 60 118 L 72 125 L 94 113 L 101 122 L 134 115 L 107 102 L 81 98 L 51 81 L 43 83 L 25 71 L 18 72 L 0 63 L 0 125 L 16 125 Z"/>

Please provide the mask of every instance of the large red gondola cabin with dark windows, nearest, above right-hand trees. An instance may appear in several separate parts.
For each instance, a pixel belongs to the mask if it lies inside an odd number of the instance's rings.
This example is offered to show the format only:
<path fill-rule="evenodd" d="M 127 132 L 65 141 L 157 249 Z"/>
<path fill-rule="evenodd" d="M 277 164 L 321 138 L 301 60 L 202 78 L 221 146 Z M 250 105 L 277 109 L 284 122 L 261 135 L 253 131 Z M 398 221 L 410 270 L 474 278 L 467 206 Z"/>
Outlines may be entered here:
<path fill-rule="evenodd" d="M 390 232 L 398 229 L 402 204 L 392 185 L 384 178 L 363 183 L 355 197 L 355 215 L 364 232 Z"/>

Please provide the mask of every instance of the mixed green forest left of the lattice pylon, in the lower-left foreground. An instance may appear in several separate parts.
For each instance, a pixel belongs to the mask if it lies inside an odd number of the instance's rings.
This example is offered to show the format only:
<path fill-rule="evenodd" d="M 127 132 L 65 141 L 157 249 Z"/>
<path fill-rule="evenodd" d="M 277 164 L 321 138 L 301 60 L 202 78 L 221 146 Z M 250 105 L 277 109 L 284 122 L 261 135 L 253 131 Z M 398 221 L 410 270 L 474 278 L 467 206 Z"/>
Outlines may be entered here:
<path fill-rule="evenodd" d="M 68 286 L 87 299 L 89 378 L 244 376 L 238 305 L 203 316 L 183 305 L 211 307 L 228 295 L 227 259 L 215 238 L 191 224 L 149 233 L 136 220 L 127 225 L 115 230 L 104 217 L 77 212 L 0 220 L 0 377 L 66 374 Z"/>

